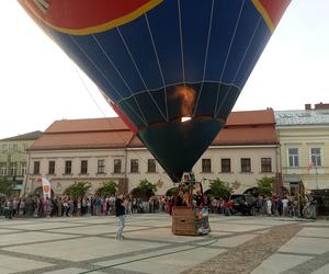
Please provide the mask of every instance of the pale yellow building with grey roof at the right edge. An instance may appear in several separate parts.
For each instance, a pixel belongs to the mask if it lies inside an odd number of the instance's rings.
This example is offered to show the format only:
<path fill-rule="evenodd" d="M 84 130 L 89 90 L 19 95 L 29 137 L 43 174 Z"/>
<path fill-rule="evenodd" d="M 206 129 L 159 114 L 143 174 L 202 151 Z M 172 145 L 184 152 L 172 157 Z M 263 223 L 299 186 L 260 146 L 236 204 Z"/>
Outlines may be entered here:
<path fill-rule="evenodd" d="M 318 193 L 329 209 L 329 104 L 277 111 L 275 119 L 284 186 L 292 195 Z"/>

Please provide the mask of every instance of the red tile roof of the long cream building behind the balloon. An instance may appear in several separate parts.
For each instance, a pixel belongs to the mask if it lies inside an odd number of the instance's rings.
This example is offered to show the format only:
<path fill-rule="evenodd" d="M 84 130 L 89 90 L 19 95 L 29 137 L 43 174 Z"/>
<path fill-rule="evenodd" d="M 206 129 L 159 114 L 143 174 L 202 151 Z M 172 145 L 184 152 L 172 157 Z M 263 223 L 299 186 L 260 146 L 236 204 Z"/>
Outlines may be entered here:
<path fill-rule="evenodd" d="M 212 145 L 279 144 L 273 110 L 232 112 Z M 54 122 L 30 150 L 144 147 L 118 117 Z"/>

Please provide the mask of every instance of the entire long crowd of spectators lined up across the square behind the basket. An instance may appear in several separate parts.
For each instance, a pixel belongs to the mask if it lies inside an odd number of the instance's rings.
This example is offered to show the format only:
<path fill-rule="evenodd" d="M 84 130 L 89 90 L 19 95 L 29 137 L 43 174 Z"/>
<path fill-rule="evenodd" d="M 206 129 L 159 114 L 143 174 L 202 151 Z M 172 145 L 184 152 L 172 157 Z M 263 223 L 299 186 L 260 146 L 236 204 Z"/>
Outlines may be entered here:
<path fill-rule="evenodd" d="M 158 213 L 167 212 L 171 214 L 173 205 L 184 205 L 184 197 L 152 195 L 148 202 L 140 198 L 125 195 L 122 197 L 125 214 L 136 213 Z M 107 197 L 83 196 L 73 198 L 67 195 L 56 196 L 54 198 L 42 198 L 38 195 L 26 198 L 7 198 L 0 199 L 0 215 L 5 218 L 13 217 L 79 217 L 79 216 L 102 216 L 115 215 L 114 195 Z M 246 214 L 260 216 L 286 216 L 286 217 L 310 217 L 316 216 L 316 205 L 310 197 L 300 202 L 294 196 L 259 196 L 250 201 L 239 201 L 240 207 L 237 208 L 234 199 L 216 199 L 212 196 L 205 196 L 201 202 L 196 195 L 195 205 L 201 203 L 209 208 L 211 213 L 224 214 L 226 216 Z M 241 207 L 242 205 L 242 207 Z M 245 206 L 245 207 L 243 207 Z M 241 208 L 249 208 L 243 212 Z"/>

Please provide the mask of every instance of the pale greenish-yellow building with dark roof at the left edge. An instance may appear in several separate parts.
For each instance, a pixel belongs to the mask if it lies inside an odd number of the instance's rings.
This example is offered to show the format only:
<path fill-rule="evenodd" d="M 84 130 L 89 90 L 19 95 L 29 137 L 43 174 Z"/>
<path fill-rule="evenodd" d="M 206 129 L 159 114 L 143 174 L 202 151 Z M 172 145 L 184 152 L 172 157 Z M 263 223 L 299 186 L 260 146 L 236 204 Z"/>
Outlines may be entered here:
<path fill-rule="evenodd" d="M 26 149 L 41 136 L 42 132 L 33 132 L 0 140 L 0 176 L 14 181 L 18 191 L 22 190 L 26 175 Z"/>

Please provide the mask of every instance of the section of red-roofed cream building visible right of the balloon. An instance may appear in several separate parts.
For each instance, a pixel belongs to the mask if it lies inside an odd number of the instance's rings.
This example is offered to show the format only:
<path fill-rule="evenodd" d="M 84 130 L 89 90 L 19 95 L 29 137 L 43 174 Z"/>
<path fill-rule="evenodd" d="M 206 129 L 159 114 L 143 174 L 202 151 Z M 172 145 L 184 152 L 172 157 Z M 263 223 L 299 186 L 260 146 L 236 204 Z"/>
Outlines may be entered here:
<path fill-rule="evenodd" d="M 275 186 L 280 184 L 279 158 L 273 111 L 232 112 L 194 170 L 198 180 L 219 178 L 229 182 L 235 193 L 243 193 L 263 176 L 275 178 Z M 212 163 L 211 172 L 207 162 Z"/>

